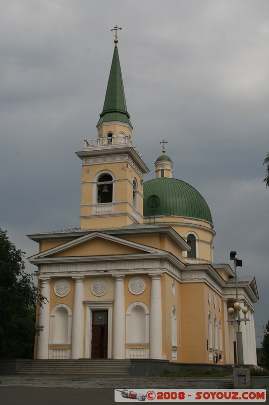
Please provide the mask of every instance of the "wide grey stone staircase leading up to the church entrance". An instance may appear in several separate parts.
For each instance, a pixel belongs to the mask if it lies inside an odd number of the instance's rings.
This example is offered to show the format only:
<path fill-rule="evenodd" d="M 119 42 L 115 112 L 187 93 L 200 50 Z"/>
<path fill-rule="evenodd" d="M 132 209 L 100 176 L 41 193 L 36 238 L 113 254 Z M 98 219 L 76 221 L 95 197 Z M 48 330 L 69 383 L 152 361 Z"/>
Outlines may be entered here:
<path fill-rule="evenodd" d="M 18 374 L 131 376 L 131 361 L 108 358 L 31 360 L 18 372 Z"/>

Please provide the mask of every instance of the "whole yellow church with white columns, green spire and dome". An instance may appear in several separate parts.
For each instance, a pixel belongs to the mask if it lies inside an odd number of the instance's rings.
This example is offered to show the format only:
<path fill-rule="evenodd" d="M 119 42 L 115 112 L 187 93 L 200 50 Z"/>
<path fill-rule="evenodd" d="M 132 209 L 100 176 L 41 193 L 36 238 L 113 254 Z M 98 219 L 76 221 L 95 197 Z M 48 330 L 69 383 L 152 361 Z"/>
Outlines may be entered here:
<path fill-rule="evenodd" d="M 237 357 L 235 272 L 213 262 L 213 222 L 202 195 L 134 145 L 117 30 L 103 110 L 82 163 L 80 227 L 28 235 L 47 302 L 36 359 L 156 359 L 232 365 Z M 97 119 L 96 119 L 97 120 Z M 159 140 L 158 140 L 159 141 Z M 68 224 L 67 224 L 68 226 Z M 237 277 L 244 363 L 256 364 L 254 277 Z M 243 310 L 243 312 L 242 312 Z M 244 325 L 245 323 L 245 325 Z"/>

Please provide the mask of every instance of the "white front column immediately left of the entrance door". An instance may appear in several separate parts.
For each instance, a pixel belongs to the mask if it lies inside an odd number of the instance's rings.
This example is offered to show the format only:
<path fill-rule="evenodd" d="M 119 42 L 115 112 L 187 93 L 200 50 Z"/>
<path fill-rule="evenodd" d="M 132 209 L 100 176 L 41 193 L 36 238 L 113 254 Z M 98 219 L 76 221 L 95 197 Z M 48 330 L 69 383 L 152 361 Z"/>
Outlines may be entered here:
<path fill-rule="evenodd" d="M 84 337 L 84 277 L 75 279 L 75 294 L 72 319 L 72 351 L 71 358 L 83 358 Z"/>

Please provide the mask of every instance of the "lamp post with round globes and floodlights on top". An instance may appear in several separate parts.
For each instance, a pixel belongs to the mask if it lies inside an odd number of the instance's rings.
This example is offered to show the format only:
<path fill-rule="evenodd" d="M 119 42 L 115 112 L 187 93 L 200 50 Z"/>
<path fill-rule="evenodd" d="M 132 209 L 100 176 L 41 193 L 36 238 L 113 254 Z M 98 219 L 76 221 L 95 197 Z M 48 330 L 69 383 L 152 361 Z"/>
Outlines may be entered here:
<path fill-rule="evenodd" d="M 228 319 L 228 322 L 231 322 L 231 325 L 233 325 L 233 322 L 237 322 L 237 327 L 238 330 L 236 332 L 236 343 L 237 343 L 237 360 L 239 365 L 244 364 L 244 355 L 243 355 L 243 339 L 242 339 L 242 332 L 240 331 L 240 322 L 244 321 L 246 325 L 246 321 L 250 320 L 246 317 L 246 314 L 248 312 L 247 307 L 241 307 L 240 303 L 238 302 L 238 289 L 237 289 L 237 272 L 236 268 L 237 267 L 242 267 L 242 260 L 239 260 L 236 258 L 236 253 L 237 252 L 231 252 L 230 253 L 230 259 L 234 260 L 234 268 L 235 268 L 235 294 L 236 294 L 236 302 L 234 303 L 234 308 L 231 307 L 228 309 L 228 313 L 231 316 L 231 319 Z M 242 312 L 244 314 L 244 318 L 240 318 L 240 309 L 242 309 Z M 235 318 L 233 318 L 233 314 L 235 312 Z"/>

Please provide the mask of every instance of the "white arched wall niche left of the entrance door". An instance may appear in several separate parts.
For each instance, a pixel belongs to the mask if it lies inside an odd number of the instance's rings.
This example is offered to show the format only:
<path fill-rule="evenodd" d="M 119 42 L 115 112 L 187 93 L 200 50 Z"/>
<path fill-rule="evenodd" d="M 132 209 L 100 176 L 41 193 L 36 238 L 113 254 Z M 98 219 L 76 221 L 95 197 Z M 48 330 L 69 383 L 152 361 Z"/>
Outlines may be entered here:
<path fill-rule="evenodd" d="M 71 321 L 70 308 L 65 304 L 57 305 L 50 314 L 50 344 L 71 343 Z"/>

